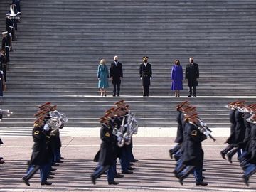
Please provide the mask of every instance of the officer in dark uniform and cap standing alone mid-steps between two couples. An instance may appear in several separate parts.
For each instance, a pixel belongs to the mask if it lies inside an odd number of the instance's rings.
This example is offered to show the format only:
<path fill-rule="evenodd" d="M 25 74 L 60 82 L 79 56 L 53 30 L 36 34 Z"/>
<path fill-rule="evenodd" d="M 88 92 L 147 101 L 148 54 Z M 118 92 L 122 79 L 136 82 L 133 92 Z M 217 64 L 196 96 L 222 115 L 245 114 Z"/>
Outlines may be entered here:
<path fill-rule="evenodd" d="M 143 63 L 139 66 L 139 75 L 142 80 L 143 96 L 149 97 L 149 86 L 152 78 L 151 64 L 148 63 L 149 57 L 143 57 Z"/>

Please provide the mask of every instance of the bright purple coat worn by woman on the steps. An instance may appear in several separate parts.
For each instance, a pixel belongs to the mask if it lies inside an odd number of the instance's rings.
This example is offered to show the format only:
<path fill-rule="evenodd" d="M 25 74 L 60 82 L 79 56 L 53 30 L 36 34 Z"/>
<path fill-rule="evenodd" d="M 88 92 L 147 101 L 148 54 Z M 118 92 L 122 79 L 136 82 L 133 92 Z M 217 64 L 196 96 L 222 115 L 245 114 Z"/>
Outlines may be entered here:
<path fill-rule="evenodd" d="M 181 65 L 174 65 L 171 68 L 171 90 L 183 90 L 183 70 Z"/>

